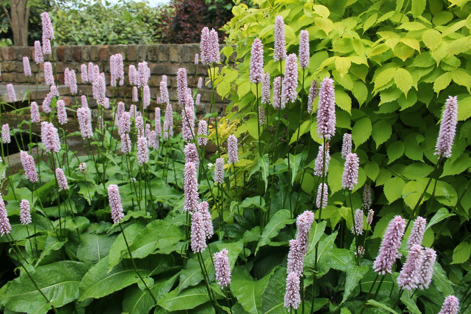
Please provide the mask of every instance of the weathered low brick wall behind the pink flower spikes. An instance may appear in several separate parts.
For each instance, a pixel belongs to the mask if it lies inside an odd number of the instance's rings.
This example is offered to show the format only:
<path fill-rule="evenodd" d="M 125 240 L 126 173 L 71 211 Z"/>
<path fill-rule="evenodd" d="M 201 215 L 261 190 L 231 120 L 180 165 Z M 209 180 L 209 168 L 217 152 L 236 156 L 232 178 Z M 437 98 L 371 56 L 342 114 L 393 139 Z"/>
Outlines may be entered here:
<path fill-rule="evenodd" d="M 128 85 L 127 80 L 128 66 L 135 64 L 136 68 L 139 62 L 146 61 L 151 70 L 151 77 L 149 79 L 149 87 L 153 104 L 155 99 L 159 96 L 159 84 L 162 80 L 162 74 L 168 76 L 169 96 L 172 104 L 176 108 L 177 90 L 176 90 L 176 73 L 178 68 L 185 67 L 188 72 L 188 86 L 193 90 L 197 83 L 198 77 L 202 76 L 206 81 L 207 67 L 199 64 L 195 67 L 195 53 L 199 53 L 199 44 L 156 44 L 156 45 L 104 45 L 104 46 L 58 46 L 53 47 L 53 56 L 56 61 L 56 68 L 58 74 L 58 84 L 64 83 L 64 69 L 69 67 L 75 69 L 77 73 L 78 95 L 86 94 L 88 89 L 91 95 L 91 86 L 89 84 L 82 84 L 80 78 L 80 65 L 82 63 L 93 62 L 99 65 L 100 71 L 105 70 L 107 96 L 112 97 L 113 88 L 109 86 L 109 57 L 116 53 L 121 53 L 124 58 L 124 72 L 126 74 L 125 85 L 120 87 L 120 98 L 127 97 L 127 102 L 130 102 L 131 87 Z M 42 64 L 35 64 L 33 61 L 34 48 L 33 47 L 3 47 L 1 48 L 0 62 L 1 62 L 1 76 L 0 82 L 2 85 L 13 83 L 13 85 L 26 85 L 28 77 L 23 73 L 23 57 L 28 56 L 30 59 L 31 69 L 34 78 L 31 79 L 30 84 L 35 84 L 36 73 L 39 69 L 40 84 L 44 84 L 44 72 Z M 47 56 L 45 56 L 47 59 Z M 224 55 L 221 55 L 221 61 L 224 60 Z M 48 61 L 48 60 L 46 60 Z M 52 57 L 49 55 L 49 61 Z M 195 81 L 195 72 L 197 73 Z M 34 87 L 31 87 L 32 89 Z M 115 91 L 116 92 L 116 91 Z M 198 108 L 199 113 L 209 112 L 209 103 L 211 101 L 211 84 L 206 85 L 203 89 L 199 90 L 201 94 L 201 106 Z M 66 96 L 66 95 L 61 95 Z M 71 97 L 73 101 L 74 97 Z M 217 106 L 223 106 L 224 102 L 216 95 Z M 93 104 L 90 104 L 93 105 Z M 219 108 L 218 108 L 219 109 Z"/>

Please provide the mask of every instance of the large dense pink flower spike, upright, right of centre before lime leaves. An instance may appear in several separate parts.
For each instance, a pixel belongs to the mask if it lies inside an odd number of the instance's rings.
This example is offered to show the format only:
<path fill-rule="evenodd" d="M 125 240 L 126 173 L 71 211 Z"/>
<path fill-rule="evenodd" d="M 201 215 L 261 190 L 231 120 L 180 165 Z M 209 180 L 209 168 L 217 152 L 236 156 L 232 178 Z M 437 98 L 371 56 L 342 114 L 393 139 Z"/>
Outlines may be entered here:
<path fill-rule="evenodd" d="M 317 103 L 317 134 L 330 140 L 335 134 L 335 91 L 333 80 L 325 78 L 319 90 Z"/>

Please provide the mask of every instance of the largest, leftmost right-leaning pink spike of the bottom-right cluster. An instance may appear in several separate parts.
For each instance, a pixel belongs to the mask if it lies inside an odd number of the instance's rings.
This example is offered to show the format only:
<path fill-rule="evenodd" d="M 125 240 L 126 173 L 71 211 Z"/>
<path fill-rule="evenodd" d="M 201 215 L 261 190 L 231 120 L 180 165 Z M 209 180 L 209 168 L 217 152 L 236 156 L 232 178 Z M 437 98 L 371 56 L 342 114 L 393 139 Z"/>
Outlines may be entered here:
<path fill-rule="evenodd" d="M 388 224 L 373 269 L 380 274 L 392 273 L 392 266 L 399 257 L 399 245 L 406 229 L 406 219 L 395 216 Z"/>

